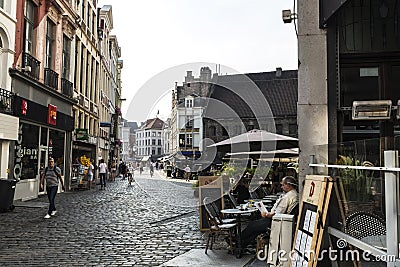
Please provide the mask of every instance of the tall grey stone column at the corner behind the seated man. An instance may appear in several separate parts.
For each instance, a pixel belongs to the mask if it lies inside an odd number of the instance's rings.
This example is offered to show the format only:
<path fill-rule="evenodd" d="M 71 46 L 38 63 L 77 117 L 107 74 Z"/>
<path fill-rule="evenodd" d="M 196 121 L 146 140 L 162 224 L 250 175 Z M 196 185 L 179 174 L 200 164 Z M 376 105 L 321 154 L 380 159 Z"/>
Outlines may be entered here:
<path fill-rule="evenodd" d="M 319 28 L 319 0 L 298 2 L 298 107 L 299 183 L 313 170 L 310 156 L 327 163 L 327 149 L 315 146 L 328 143 L 327 36 Z"/>

